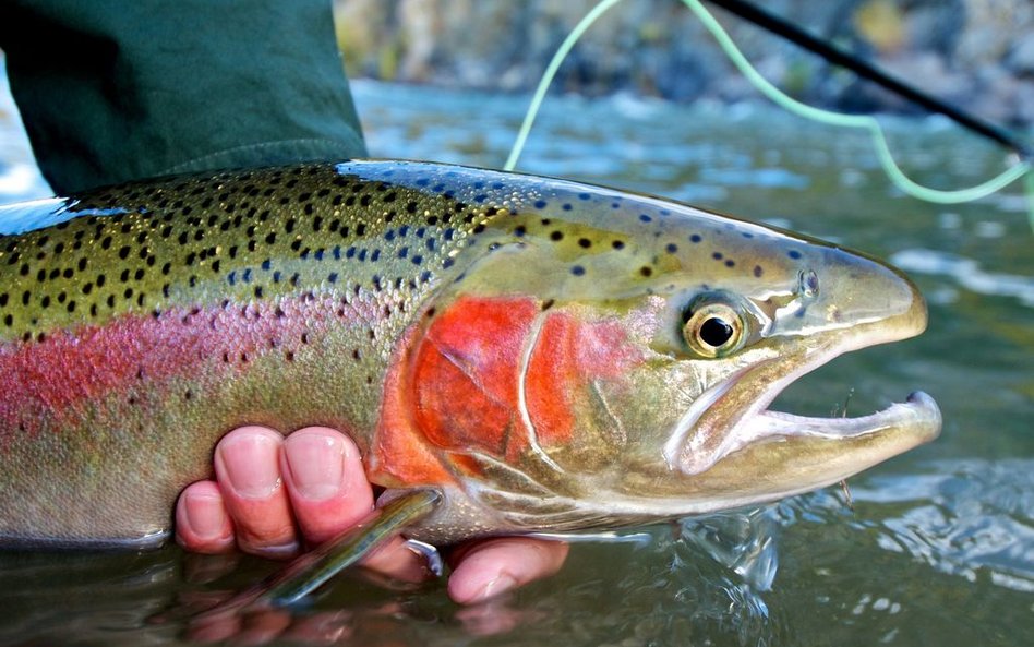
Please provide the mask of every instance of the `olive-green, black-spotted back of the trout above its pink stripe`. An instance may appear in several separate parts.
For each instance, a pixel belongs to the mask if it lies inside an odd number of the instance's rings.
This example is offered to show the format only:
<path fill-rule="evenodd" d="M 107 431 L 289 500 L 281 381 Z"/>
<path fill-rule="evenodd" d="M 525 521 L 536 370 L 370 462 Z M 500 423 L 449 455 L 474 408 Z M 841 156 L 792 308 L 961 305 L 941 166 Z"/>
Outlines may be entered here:
<path fill-rule="evenodd" d="M 277 187 L 292 196 L 276 197 Z M 2 338 L 338 281 L 342 293 L 419 293 L 473 228 L 474 213 L 321 167 L 153 182 L 92 194 L 71 208 L 111 205 L 123 213 L 0 239 Z"/>

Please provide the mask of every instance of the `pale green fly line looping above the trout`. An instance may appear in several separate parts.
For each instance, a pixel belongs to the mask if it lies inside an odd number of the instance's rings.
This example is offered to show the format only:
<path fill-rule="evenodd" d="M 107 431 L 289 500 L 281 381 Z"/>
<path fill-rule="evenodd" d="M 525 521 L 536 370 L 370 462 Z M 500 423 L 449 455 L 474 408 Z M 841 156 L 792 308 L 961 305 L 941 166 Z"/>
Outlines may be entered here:
<path fill-rule="evenodd" d="M 509 152 L 509 157 L 506 159 L 506 165 L 503 167 L 504 170 L 514 170 L 514 167 L 516 167 L 517 158 L 520 157 L 520 154 L 525 147 L 525 143 L 528 140 L 528 133 L 531 132 L 531 124 L 534 122 L 534 118 L 542 106 L 543 99 L 545 98 L 545 93 L 549 89 L 550 84 L 553 82 L 553 77 L 556 75 L 556 71 L 560 69 L 561 63 L 563 63 L 564 59 L 567 58 L 567 55 L 570 52 L 572 48 L 581 38 L 586 31 L 601 15 L 603 15 L 603 13 L 621 1 L 622 0 L 601 0 L 596 7 L 592 8 L 589 13 L 585 15 L 585 17 L 581 19 L 577 25 L 575 25 L 575 28 L 570 31 L 570 34 L 568 34 L 561 44 L 560 48 L 556 50 L 556 53 L 553 55 L 553 59 L 546 67 L 545 72 L 543 72 L 542 79 L 539 81 L 539 85 L 532 95 L 531 105 L 528 107 L 528 112 L 525 115 L 525 120 L 517 133 L 517 140 L 514 142 L 514 146 Z M 893 184 L 902 192 L 925 202 L 938 204 L 959 204 L 986 197 L 987 195 L 990 195 L 991 193 L 995 193 L 1011 184 L 1012 182 L 1025 177 L 1024 185 L 1027 197 L 1027 216 L 1031 227 L 1034 229 L 1034 172 L 1031 172 L 1032 169 L 1029 161 L 1020 161 L 1019 164 L 1007 169 L 1001 175 L 976 187 L 970 187 L 967 189 L 942 191 L 923 187 L 905 176 L 904 171 L 902 171 L 894 161 L 893 155 L 890 152 L 890 146 L 887 144 L 887 137 L 883 134 L 883 129 L 876 118 L 867 115 L 843 115 L 840 112 L 832 112 L 830 110 L 822 110 L 820 108 L 815 108 L 791 98 L 772 85 L 767 79 L 761 76 L 761 74 L 756 69 L 754 69 L 743 52 L 740 51 L 740 48 L 736 47 L 736 44 L 733 43 L 733 39 L 729 33 L 722 28 L 721 24 L 719 24 L 719 22 L 714 20 L 714 16 L 712 16 L 710 12 L 704 8 L 699 0 L 682 0 L 682 3 L 693 11 L 697 19 L 704 24 L 705 28 L 711 33 L 711 36 L 714 37 L 719 46 L 722 48 L 722 51 L 725 52 L 725 56 L 729 57 L 736 69 L 740 70 L 740 72 L 747 79 L 747 81 L 750 82 L 752 85 L 754 85 L 755 88 L 757 88 L 758 92 L 768 97 L 769 100 L 773 101 L 775 105 L 782 107 L 789 112 L 805 119 L 810 119 L 811 121 L 840 128 L 854 128 L 868 131 L 873 139 L 873 147 L 876 151 L 880 166 L 883 168 L 883 172 L 887 173 L 887 177 L 891 180 L 891 182 L 893 182 Z"/>

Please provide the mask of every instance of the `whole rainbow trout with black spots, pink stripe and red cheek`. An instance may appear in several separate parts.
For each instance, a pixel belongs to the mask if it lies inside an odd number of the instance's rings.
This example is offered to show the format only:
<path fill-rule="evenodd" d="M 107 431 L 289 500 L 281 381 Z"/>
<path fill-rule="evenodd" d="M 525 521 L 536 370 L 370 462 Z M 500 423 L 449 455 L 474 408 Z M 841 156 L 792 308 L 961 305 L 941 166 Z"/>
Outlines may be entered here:
<path fill-rule="evenodd" d="M 37 228 L 0 238 L 9 546 L 161 542 L 244 423 L 347 431 L 388 500 L 437 493 L 406 520 L 431 542 L 771 501 L 940 429 L 922 393 L 770 410 L 833 357 L 922 332 L 924 302 L 869 257 L 681 204 L 349 161 L 11 218 Z"/>

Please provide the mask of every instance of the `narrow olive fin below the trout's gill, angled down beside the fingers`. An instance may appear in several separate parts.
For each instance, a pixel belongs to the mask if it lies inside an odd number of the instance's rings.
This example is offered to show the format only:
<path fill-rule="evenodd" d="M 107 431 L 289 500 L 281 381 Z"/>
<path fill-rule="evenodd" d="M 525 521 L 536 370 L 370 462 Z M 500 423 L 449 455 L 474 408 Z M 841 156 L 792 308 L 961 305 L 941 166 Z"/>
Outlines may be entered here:
<path fill-rule="evenodd" d="M 442 494 L 436 490 L 413 490 L 399 494 L 383 507 L 373 510 L 356 526 L 294 559 L 255 586 L 203 612 L 201 616 L 292 604 L 410 524 L 430 515 L 441 501 Z"/>

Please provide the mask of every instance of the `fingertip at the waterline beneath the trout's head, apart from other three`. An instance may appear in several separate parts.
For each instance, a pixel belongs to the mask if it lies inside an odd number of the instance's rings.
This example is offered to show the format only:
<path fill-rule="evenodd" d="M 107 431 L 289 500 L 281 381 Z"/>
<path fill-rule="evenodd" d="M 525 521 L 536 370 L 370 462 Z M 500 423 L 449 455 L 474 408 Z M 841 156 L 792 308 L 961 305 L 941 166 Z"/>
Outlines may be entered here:
<path fill-rule="evenodd" d="M 454 555 L 448 595 L 460 604 L 488 600 L 553 575 L 564 564 L 567 550 L 563 542 L 521 537 L 476 542 Z"/>

